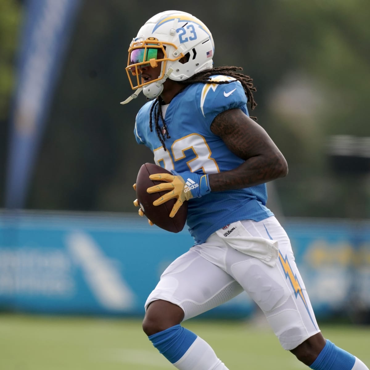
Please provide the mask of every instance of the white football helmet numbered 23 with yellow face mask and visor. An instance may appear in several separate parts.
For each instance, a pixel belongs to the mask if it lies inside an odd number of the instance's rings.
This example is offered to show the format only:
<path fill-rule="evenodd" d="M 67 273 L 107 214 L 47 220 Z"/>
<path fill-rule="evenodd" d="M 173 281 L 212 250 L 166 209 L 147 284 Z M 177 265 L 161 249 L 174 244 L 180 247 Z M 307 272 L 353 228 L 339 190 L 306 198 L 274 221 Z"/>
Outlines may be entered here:
<path fill-rule="evenodd" d="M 157 58 L 158 49 L 164 57 Z M 211 32 L 196 17 L 176 10 L 156 14 L 140 28 L 128 49 L 126 72 L 131 88 L 138 91 L 122 104 L 136 98 L 142 90 L 148 98 L 158 97 L 166 78 L 182 81 L 212 68 L 214 50 Z M 187 61 L 182 63 L 184 56 Z M 157 63 L 162 63 L 158 78 L 143 81 L 140 66 L 156 67 Z"/>

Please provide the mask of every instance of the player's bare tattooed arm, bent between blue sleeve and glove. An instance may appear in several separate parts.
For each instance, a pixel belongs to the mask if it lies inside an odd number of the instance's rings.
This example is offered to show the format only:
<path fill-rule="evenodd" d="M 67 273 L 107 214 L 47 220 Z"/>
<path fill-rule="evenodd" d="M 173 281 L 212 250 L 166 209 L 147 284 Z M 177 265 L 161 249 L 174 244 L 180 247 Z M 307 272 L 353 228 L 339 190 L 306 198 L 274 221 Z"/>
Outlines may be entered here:
<path fill-rule="evenodd" d="M 266 131 L 235 108 L 220 113 L 211 124 L 231 152 L 244 163 L 231 171 L 209 175 L 212 191 L 248 188 L 286 176 L 288 166 Z"/>

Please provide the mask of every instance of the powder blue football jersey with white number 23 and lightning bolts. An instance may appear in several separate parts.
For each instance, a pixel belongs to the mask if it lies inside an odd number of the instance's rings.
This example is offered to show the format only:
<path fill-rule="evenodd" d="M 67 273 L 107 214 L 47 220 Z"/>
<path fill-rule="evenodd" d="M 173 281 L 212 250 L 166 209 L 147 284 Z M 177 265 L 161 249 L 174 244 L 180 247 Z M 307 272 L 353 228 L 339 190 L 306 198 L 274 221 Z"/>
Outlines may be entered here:
<path fill-rule="evenodd" d="M 165 140 L 167 150 L 158 139 L 157 132 L 149 129 L 152 101 L 138 112 L 135 137 L 154 153 L 157 165 L 168 171 L 174 169 L 199 174 L 228 171 L 243 163 L 210 129 L 214 118 L 221 112 L 240 108 L 248 114 L 247 98 L 239 81 L 228 76 L 213 76 L 212 81 L 228 80 L 228 84 L 191 84 L 176 95 L 168 105 L 165 122 L 170 139 Z M 161 123 L 161 120 L 160 120 Z M 245 189 L 212 192 L 188 201 L 189 231 L 195 244 L 205 242 L 209 235 L 228 223 L 252 219 L 261 221 L 273 213 L 266 208 L 266 184 Z"/>

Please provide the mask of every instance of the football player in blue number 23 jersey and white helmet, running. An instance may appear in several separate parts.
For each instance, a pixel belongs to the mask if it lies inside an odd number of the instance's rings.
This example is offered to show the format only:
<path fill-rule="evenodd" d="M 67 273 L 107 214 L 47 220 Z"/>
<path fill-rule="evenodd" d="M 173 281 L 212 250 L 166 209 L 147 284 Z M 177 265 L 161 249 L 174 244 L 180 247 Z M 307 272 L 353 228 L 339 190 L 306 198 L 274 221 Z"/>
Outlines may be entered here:
<path fill-rule="evenodd" d="M 194 246 L 164 271 L 145 303 L 144 332 L 181 370 L 225 370 L 211 346 L 181 322 L 245 290 L 282 347 L 316 370 L 369 370 L 325 339 L 316 322 L 289 238 L 266 207 L 266 182 L 286 176 L 287 163 L 249 117 L 252 79 L 237 67 L 213 67 L 211 32 L 199 19 L 165 11 L 132 40 L 126 68 L 133 90 L 151 99 L 134 134 L 149 147 L 162 185 L 155 205 L 188 201 Z M 158 175 L 151 175 L 158 179 Z M 138 205 L 137 201 L 134 202 Z M 141 209 L 139 214 L 143 215 Z"/>

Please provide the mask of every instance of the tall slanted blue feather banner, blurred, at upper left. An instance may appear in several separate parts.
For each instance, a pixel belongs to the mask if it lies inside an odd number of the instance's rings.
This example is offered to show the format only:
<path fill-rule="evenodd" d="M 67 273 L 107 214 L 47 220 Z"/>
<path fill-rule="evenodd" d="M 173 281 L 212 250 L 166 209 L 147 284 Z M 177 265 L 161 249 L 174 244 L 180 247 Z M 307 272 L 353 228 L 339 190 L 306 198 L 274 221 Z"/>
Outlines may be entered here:
<path fill-rule="evenodd" d="M 43 128 L 80 5 L 28 0 L 10 120 L 6 207 L 23 208 Z"/>

